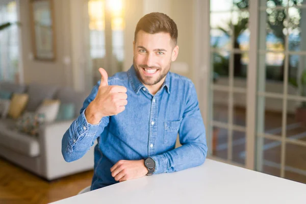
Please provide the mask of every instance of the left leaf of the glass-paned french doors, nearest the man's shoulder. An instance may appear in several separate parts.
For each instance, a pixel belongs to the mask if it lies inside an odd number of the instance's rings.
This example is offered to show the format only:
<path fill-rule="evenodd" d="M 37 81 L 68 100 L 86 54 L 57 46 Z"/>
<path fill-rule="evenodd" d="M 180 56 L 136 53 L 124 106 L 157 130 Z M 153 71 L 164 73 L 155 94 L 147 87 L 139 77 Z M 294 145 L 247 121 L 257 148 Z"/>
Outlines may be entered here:
<path fill-rule="evenodd" d="M 245 166 L 248 1 L 210 1 L 210 156 Z"/>

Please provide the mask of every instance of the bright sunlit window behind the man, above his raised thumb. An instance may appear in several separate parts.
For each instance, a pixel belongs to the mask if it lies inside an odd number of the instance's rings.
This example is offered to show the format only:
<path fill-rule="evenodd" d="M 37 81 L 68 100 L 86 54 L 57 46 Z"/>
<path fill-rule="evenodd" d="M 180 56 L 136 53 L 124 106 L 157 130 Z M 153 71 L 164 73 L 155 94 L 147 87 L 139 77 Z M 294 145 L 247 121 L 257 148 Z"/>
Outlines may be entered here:
<path fill-rule="evenodd" d="M 99 67 L 104 67 L 109 75 L 123 69 L 123 3 L 123 0 L 88 2 L 93 82 L 101 78 Z"/>

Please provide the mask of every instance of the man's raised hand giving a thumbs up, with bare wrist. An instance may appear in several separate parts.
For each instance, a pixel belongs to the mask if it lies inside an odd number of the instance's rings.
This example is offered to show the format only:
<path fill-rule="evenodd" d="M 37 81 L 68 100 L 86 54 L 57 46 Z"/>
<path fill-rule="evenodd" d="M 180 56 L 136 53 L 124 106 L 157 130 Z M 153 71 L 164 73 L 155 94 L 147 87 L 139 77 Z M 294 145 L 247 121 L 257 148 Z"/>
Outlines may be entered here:
<path fill-rule="evenodd" d="M 108 74 L 99 68 L 101 82 L 96 97 L 85 111 L 85 117 L 91 124 L 97 124 L 101 118 L 117 115 L 125 110 L 127 104 L 126 88 L 124 86 L 109 86 Z"/>

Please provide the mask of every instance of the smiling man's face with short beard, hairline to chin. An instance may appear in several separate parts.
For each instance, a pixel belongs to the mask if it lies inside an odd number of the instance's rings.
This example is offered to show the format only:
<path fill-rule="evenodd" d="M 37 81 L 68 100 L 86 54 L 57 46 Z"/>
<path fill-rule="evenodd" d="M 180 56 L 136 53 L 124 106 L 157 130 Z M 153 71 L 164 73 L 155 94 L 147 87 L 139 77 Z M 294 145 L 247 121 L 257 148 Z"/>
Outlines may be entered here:
<path fill-rule="evenodd" d="M 134 44 L 134 67 L 139 80 L 145 85 L 164 81 L 171 62 L 179 53 L 168 33 L 149 34 L 142 30 L 137 33 Z"/>

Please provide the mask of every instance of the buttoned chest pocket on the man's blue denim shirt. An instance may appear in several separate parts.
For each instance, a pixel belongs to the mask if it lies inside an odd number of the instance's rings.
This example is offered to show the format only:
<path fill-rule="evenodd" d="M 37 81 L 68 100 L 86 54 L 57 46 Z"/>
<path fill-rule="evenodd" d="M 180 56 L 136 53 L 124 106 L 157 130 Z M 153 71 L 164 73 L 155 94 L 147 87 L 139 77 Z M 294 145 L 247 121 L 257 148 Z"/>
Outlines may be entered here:
<path fill-rule="evenodd" d="M 164 143 L 166 145 L 174 145 L 177 134 L 179 133 L 180 126 L 181 126 L 181 120 L 176 120 L 176 121 L 165 121 L 164 126 L 165 126 L 165 131 L 164 131 Z"/>

